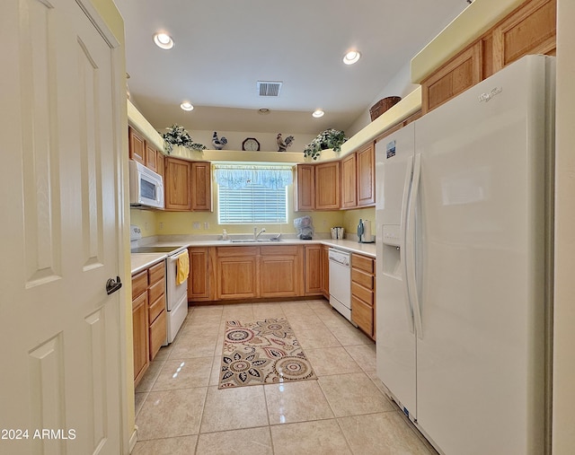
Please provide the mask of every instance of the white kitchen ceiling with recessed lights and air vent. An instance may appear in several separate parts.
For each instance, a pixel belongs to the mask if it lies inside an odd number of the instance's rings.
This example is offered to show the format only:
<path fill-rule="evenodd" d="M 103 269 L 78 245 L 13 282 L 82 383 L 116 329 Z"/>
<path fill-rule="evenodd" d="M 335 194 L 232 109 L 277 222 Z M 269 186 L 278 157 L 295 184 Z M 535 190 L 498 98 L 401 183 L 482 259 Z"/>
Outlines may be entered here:
<path fill-rule="evenodd" d="M 346 130 L 466 0 L 115 0 L 130 100 L 158 130 Z M 153 35 L 173 37 L 170 50 Z M 362 57 L 346 66 L 343 55 Z M 261 97 L 257 81 L 281 81 Z M 408 81 L 405 81 L 405 85 Z M 190 112 L 180 109 L 190 101 Z M 270 109 L 267 115 L 258 112 Z M 323 118 L 312 118 L 323 109 Z"/>

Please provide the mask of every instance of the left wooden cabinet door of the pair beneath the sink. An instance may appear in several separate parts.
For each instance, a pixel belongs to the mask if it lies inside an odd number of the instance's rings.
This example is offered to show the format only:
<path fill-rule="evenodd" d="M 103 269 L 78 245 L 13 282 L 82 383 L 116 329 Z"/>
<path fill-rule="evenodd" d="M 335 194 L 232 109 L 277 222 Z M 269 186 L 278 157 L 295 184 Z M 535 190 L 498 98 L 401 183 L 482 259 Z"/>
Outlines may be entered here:
<path fill-rule="evenodd" d="M 217 258 L 217 298 L 257 297 L 256 256 Z"/>

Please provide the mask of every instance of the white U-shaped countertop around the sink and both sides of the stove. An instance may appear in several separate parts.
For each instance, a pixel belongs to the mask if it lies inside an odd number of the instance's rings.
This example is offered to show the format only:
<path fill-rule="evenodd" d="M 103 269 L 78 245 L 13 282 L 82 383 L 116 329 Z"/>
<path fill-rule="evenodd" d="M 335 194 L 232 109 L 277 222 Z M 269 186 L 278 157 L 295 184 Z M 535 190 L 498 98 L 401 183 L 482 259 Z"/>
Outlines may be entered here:
<path fill-rule="evenodd" d="M 232 241 L 155 241 L 153 243 L 146 243 L 146 246 L 154 247 L 242 247 L 242 246 L 276 246 L 276 245 L 311 245 L 322 244 L 338 249 L 345 249 L 353 253 L 363 254 L 369 258 L 376 258 L 376 244 L 375 243 L 358 243 L 357 241 L 334 241 L 332 239 L 314 239 L 311 241 L 300 241 L 298 239 L 285 239 L 281 241 L 270 241 L 260 243 L 233 243 Z M 166 253 L 132 253 L 131 255 L 131 268 L 132 275 L 140 272 L 147 267 L 153 266 L 155 263 L 164 260 Z"/>

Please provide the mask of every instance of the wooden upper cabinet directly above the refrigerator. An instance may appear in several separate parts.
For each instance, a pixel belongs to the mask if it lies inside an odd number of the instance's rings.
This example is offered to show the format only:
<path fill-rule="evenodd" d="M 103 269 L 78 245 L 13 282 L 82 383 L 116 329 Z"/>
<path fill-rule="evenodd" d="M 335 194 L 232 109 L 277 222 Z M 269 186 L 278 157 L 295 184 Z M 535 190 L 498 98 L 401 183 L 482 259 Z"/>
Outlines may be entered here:
<path fill-rule="evenodd" d="M 421 81 L 423 113 L 527 54 L 555 55 L 556 0 L 528 0 Z"/>

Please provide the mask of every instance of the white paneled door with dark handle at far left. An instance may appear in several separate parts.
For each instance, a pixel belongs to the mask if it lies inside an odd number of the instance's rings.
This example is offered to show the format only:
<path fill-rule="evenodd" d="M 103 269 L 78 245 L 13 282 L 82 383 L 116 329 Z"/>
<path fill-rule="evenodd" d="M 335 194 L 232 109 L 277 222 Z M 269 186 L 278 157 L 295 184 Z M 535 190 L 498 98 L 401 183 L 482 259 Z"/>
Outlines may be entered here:
<path fill-rule="evenodd" d="M 119 454 L 123 57 L 88 0 L 5 0 L 0 38 L 0 453 Z"/>

